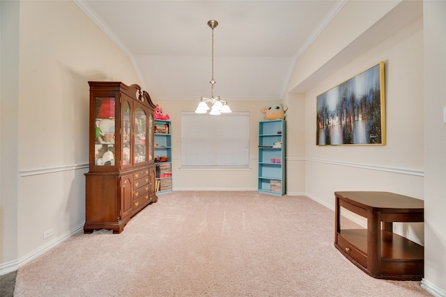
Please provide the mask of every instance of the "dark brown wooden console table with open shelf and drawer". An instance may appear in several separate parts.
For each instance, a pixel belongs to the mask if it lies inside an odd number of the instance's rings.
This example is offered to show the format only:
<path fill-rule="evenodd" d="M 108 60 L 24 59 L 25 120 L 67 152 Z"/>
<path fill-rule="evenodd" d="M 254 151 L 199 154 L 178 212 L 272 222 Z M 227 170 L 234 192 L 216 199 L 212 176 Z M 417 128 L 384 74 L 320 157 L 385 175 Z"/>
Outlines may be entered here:
<path fill-rule="evenodd" d="M 423 278 L 424 247 L 392 232 L 392 222 L 424 221 L 423 200 L 371 191 L 334 192 L 334 197 L 334 246 L 342 255 L 374 278 Z M 367 218 L 367 229 L 341 229 L 341 207 Z"/>

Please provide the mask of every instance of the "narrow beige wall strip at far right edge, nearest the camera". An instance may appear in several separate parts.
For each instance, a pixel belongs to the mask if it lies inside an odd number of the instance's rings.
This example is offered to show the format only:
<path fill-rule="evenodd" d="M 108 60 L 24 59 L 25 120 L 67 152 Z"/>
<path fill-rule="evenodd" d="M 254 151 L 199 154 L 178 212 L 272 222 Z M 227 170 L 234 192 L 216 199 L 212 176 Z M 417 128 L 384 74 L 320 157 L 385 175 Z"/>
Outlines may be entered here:
<path fill-rule="evenodd" d="M 424 1 L 424 279 L 446 296 L 446 1 Z"/>

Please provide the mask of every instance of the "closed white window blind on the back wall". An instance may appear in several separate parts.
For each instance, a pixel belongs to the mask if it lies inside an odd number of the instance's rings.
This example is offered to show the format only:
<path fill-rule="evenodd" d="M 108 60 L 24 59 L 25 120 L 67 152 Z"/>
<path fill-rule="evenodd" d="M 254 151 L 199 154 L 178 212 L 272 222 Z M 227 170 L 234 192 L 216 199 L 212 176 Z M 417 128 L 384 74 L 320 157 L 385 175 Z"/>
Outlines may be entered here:
<path fill-rule="evenodd" d="M 249 166 L 249 113 L 181 114 L 182 166 Z"/>

